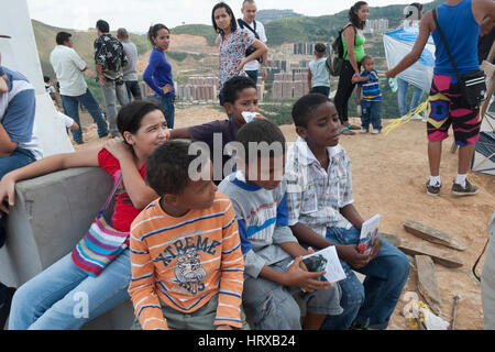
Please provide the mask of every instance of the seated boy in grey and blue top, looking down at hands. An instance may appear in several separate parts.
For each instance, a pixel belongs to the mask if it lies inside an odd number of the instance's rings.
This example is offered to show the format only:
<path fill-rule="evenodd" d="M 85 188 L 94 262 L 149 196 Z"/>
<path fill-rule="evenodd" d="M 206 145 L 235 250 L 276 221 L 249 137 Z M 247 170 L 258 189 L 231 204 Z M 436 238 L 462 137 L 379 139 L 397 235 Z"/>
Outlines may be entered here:
<path fill-rule="evenodd" d="M 317 278 L 324 272 L 300 268 L 301 248 L 287 222 L 286 184 L 283 179 L 285 138 L 266 120 L 253 121 L 238 133 L 238 172 L 219 186 L 230 197 L 245 258 L 243 306 L 256 330 L 300 330 L 296 294 L 307 305 L 305 329 L 318 330 L 328 315 L 342 312 L 340 289 Z M 274 146 L 266 155 L 252 153 L 251 143 Z M 268 158 L 268 160 L 266 160 Z M 265 163 L 266 162 L 266 163 Z M 262 168 L 265 166 L 265 168 Z M 288 264 L 295 258 L 294 264 Z"/>

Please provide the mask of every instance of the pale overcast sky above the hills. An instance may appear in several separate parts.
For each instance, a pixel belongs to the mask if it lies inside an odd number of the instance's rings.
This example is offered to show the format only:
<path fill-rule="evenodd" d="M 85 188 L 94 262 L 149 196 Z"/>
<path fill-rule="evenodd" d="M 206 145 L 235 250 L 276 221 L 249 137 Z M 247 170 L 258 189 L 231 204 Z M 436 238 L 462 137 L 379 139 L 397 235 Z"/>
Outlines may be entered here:
<path fill-rule="evenodd" d="M 237 16 L 243 0 L 227 0 Z M 371 7 L 410 3 L 415 0 L 370 0 Z M 418 0 L 416 0 L 418 1 Z M 32 19 L 46 24 L 70 29 L 94 28 L 99 19 L 107 20 L 111 30 L 120 26 L 132 32 L 147 32 L 151 24 L 168 28 L 183 24 L 211 24 L 211 9 L 217 0 L 28 0 Z M 292 9 L 305 15 L 323 15 L 351 8 L 354 0 L 258 0 L 262 9 Z M 419 2 L 430 2 L 419 1 Z"/>

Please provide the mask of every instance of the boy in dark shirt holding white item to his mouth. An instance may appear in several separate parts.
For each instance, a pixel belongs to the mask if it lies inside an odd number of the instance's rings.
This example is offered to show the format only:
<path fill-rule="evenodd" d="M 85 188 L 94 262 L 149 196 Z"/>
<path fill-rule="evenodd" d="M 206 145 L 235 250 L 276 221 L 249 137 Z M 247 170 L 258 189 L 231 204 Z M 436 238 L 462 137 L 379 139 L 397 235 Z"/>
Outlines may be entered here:
<path fill-rule="evenodd" d="M 239 129 L 251 121 L 249 117 L 243 114 L 256 114 L 256 119 L 264 119 L 261 114 L 257 114 L 256 85 L 249 77 L 237 76 L 229 79 L 220 91 L 220 105 L 226 109 L 229 119 L 185 129 L 175 129 L 170 135 L 172 140 L 190 139 L 193 142 L 205 142 L 208 144 L 215 167 L 213 182 L 217 185 L 232 172 L 224 173 L 224 166 L 231 156 L 223 152 L 227 144 L 235 141 Z M 221 146 L 220 151 L 215 148 L 216 135 L 221 142 L 218 145 Z M 217 155 L 213 155 L 213 152 L 217 152 Z"/>

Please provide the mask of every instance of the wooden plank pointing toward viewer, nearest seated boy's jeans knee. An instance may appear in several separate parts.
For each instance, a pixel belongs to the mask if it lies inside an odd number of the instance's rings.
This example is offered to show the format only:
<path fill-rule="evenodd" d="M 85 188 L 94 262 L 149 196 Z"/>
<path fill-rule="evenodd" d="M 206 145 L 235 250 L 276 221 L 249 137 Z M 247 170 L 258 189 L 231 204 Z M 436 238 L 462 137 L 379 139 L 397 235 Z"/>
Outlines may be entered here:
<path fill-rule="evenodd" d="M 416 255 L 418 290 L 437 316 L 442 312 L 442 298 L 438 286 L 435 264 L 428 255 Z"/>

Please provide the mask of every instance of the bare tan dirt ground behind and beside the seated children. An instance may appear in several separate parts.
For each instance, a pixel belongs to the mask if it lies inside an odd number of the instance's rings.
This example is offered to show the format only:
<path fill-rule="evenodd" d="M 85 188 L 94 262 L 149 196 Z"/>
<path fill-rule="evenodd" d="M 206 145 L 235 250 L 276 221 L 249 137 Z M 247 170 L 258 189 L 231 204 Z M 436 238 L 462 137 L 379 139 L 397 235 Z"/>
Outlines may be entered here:
<path fill-rule="evenodd" d="M 175 117 L 176 128 L 224 118 L 226 116 L 220 111 L 200 106 L 177 108 Z M 76 145 L 76 150 L 105 143 L 105 140 L 98 139 L 95 123 L 90 122 L 87 116 L 82 117 L 86 143 Z M 351 119 L 351 122 L 359 123 L 359 120 Z M 288 142 L 296 140 L 297 135 L 292 125 L 282 127 L 282 130 Z M 483 329 L 481 286 L 472 274 L 472 266 L 488 238 L 486 228 L 495 211 L 495 179 L 487 175 L 469 175 L 469 179 L 480 187 L 480 194 L 475 197 L 454 198 L 450 194 L 450 187 L 457 175 L 458 155 L 451 154 L 451 144 L 452 136 L 446 141 L 442 153 L 443 189 L 438 198 L 433 198 L 425 193 L 425 183 L 429 175 L 425 122 L 411 121 L 393 131 L 388 136 L 356 134 L 341 138 L 341 145 L 352 161 L 355 206 L 364 219 L 380 213 L 382 216 L 381 232 L 396 234 L 409 242 L 425 241 L 405 231 L 405 220 L 419 221 L 444 231 L 469 245 L 466 251 L 459 252 L 431 244 L 455 254 L 464 263 L 464 266 L 458 270 L 436 264 L 442 298 L 440 317 L 451 321 L 453 296 L 460 295 L 457 329 L 481 330 Z M 482 264 L 483 261 L 480 268 Z M 388 327 L 391 330 L 410 329 L 400 315 L 407 304 L 403 301 L 404 294 L 407 292 L 418 292 L 413 258 L 409 280 L 392 318 Z"/>

